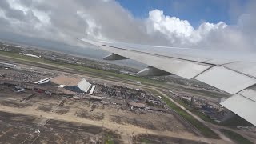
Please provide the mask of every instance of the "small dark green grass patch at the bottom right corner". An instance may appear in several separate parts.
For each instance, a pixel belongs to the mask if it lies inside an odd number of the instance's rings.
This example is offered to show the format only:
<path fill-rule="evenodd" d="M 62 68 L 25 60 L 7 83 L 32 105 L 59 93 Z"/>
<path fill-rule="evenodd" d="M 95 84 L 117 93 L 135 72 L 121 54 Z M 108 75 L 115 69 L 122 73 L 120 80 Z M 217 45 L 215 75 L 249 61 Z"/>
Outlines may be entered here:
<path fill-rule="evenodd" d="M 222 129 L 221 132 L 225 134 L 228 138 L 232 139 L 236 143 L 242 143 L 242 144 L 253 144 L 253 142 L 250 142 L 250 140 L 242 137 L 242 135 L 237 134 L 230 130 L 224 130 Z"/>

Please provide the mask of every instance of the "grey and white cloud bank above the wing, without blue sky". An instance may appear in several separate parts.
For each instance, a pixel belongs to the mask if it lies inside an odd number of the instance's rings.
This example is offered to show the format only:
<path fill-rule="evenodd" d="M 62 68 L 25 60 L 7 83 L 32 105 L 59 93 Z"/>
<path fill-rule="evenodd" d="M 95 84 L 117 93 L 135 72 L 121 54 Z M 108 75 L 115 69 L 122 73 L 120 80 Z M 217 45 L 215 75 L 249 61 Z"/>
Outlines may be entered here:
<path fill-rule="evenodd" d="M 256 2 L 250 2 L 248 10 L 242 11 L 232 26 L 202 22 L 193 27 L 187 20 L 165 15 L 162 10 L 149 11 L 148 18 L 134 18 L 113 0 L 2 0 L 0 30 L 76 46 L 79 42 L 75 38 L 89 37 L 162 46 L 254 50 L 255 8 Z"/>

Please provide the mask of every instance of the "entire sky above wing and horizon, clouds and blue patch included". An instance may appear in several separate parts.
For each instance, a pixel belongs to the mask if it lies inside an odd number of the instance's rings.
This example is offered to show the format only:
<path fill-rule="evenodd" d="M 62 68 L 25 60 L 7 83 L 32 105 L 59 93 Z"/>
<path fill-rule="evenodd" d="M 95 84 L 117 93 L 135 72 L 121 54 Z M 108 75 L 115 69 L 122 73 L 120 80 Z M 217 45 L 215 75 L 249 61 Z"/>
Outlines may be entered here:
<path fill-rule="evenodd" d="M 0 38 L 63 50 L 97 38 L 256 51 L 255 12 L 254 0 L 1 0 Z"/>

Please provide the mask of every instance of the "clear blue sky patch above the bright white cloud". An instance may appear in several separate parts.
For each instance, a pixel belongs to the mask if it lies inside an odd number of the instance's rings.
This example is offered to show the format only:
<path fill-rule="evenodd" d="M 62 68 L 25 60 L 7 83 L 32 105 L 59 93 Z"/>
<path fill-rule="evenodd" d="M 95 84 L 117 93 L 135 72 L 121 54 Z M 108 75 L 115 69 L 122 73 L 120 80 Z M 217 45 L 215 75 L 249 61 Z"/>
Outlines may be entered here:
<path fill-rule="evenodd" d="M 150 10 L 163 10 L 165 15 L 186 19 L 192 26 L 202 22 L 232 24 L 230 9 L 236 3 L 242 8 L 248 0 L 117 0 L 137 18 L 146 18 Z M 233 3 L 231 3 L 233 2 Z"/>

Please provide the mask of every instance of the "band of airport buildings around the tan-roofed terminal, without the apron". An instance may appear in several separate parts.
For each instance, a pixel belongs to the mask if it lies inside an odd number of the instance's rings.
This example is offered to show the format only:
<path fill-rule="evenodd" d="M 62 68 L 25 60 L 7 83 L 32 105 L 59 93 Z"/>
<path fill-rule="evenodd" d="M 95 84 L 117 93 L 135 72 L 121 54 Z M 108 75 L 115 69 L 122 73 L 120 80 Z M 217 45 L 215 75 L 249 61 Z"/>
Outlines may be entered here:
<path fill-rule="evenodd" d="M 34 70 L 22 70 L 21 68 L 5 69 L 6 66 L 14 67 L 14 64 L 0 63 L 2 84 L 14 86 L 17 93 L 26 92 L 26 89 L 34 90 L 46 95 L 58 94 L 75 100 L 86 99 L 90 102 L 101 102 L 106 105 L 125 106 L 128 110 L 157 110 L 167 112 L 165 102 L 161 98 L 146 94 L 139 88 L 126 86 L 90 83 L 86 78 L 74 78 L 64 75 L 55 76 L 50 73 L 39 73 Z M 30 95 L 27 99 L 32 98 Z M 61 105 L 64 105 L 63 102 Z"/>

